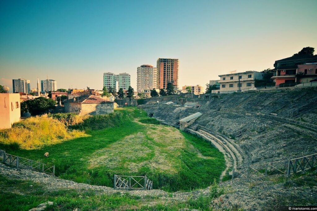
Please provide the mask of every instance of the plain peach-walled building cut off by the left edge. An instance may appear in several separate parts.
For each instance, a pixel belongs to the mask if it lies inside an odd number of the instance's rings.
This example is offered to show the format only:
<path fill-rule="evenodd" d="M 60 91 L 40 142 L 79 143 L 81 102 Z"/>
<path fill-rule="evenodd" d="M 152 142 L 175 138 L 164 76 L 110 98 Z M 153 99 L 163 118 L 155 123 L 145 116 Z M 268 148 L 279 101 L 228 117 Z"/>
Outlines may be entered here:
<path fill-rule="evenodd" d="M 19 93 L 0 93 L 0 129 L 11 128 L 20 121 L 20 109 Z"/>

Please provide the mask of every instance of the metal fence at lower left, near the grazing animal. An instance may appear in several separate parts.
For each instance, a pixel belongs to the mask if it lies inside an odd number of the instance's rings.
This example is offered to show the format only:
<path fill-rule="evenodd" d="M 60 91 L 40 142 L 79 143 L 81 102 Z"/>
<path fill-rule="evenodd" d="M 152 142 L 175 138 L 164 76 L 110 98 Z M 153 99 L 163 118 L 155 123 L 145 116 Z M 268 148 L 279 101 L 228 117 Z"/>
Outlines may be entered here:
<path fill-rule="evenodd" d="M 47 165 L 39 161 L 21 158 L 19 156 L 3 153 L 3 164 L 15 166 L 16 168 L 30 169 L 33 171 L 40 171 L 46 174 L 55 174 L 55 165 Z"/>

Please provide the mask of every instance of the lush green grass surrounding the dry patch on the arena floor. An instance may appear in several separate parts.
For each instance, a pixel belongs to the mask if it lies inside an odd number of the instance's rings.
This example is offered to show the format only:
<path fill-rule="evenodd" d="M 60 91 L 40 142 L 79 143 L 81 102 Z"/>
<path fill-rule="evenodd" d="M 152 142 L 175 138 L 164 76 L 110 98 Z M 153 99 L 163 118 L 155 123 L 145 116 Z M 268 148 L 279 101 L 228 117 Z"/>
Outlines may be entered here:
<path fill-rule="evenodd" d="M 157 123 L 146 116 L 146 113 L 136 108 L 118 109 L 115 112 L 122 113 L 122 119 L 116 120 L 116 126 L 101 130 L 90 130 L 87 133 L 89 137 L 81 137 L 73 140 L 67 140 L 62 143 L 44 146 L 36 150 L 10 149 L 8 146 L 0 146 L 8 153 L 19 155 L 34 160 L 43 160 L 45 163 L 55 165 L 55 175 L 64 179 L 70 179 L 75 182 L 89 183 L 96 185 L 113 185 L 113 174 L 117 173 L 121 166 L 117 169 L 107 168 L 107 166 L 99 166 L 89 168 L 89 160 L 93 154 L 100 149 L 122 141 L 127 136 L 138 133 L 146 134 L 146 131 L 153 127 L 152 124 L 139 124 L 133 120 L 141 118 L 142 122 Z M 168 126 L 161 126 L 168 127 Z M 177 129 L 172 128 L 177 131 Z M 179 132 L 178 132 L 179 133 Z M 120 172 L 126 175 L 147 175 L 154 184 L 154 188 L 165 189 L 168 191 L 191 190 L 200 187 L 207 187 L 214 178 L 218 179 L 221 172 L 225 168 L 223 154 L 217 149 L 210 146 L 209 143 L 193 135 L 182 133 L 185 139 L 185 147 L 179 151 L 179 154 L 173 159 L 180 167 L 177 172 L 156 171 L 152 168 L 141 166 L 137 171 L 131 172 L 123 168 Z M 148 148 L 156 147 L 151 137 L 146 134 L 148 140 Z M 146 143 L 145 143 L 146 144 Z M 198 156 L 195 150 L 200 152 L 202 156 Z M 161 150 L 166 146 L 161 147 Z M 122 150 L 122 149 L 121 149 Z M 119 150 L 120 151 L 120 150 Z M 43 158 L 43 154 L 49 152 L 48 158 Z M 159 151 L 162 152 L 162 151 Z M 149 153 L 147 159 L 153 158 L 153 153 Z M 142 158 L 144 159 L 144 158 Z M 133 161 L 139 164 L 140 160 Z"/>

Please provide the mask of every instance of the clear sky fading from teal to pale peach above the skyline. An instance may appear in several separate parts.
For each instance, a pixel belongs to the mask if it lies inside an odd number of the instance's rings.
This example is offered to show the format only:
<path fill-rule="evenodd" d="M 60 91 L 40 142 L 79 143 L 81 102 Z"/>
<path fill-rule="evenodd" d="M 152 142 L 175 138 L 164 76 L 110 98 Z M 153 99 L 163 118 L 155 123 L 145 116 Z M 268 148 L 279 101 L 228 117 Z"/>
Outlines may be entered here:
<path fill-rule="evenodd" d="M 102 89 L 103 73 L 179 59 L 179 87 L 317 52 L 317 0 L 0 0 L 0 84 Z M 315 53 L 316 53 L 315 52 Z"/>

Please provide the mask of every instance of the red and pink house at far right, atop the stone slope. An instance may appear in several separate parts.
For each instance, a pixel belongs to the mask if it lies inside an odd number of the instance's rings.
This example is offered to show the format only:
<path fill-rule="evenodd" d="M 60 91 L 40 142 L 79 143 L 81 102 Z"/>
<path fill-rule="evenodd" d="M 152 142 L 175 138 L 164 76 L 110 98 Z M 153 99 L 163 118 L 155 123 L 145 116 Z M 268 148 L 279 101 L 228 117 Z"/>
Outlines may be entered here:
<path fill-rule="evenodd" d="M 316 78 L 317 62 L 279 66 L 276 68 L 276 73 L 272 77 L 276 87 L 282 86 L 282 84 L 295 86 L 296 84 L 309 83 L 315 81 Z"/>

